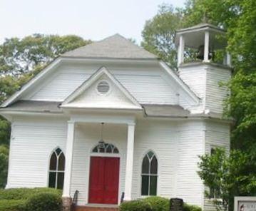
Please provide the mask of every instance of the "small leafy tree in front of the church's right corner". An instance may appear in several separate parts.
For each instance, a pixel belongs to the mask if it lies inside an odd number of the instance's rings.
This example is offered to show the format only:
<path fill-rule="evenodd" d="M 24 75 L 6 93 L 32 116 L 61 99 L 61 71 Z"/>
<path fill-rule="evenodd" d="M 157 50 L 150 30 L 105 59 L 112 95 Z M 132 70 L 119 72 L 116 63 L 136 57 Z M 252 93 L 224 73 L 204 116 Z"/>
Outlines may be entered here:
<path fill-rule="evenodd" d="M 217 192 L 222 199 L 214 200 L 217 210 L 233 210 L 234 195 L 256 195 L 256 163 L 240 150 L 227 155 L 224 149 L 216 149 L 213 155 L 200 156 L 198 174 L 204 184 Z M 247 173 L 252 168 L 253 172 Z M 205 194 L 210 197 L 210 192 Z"/>

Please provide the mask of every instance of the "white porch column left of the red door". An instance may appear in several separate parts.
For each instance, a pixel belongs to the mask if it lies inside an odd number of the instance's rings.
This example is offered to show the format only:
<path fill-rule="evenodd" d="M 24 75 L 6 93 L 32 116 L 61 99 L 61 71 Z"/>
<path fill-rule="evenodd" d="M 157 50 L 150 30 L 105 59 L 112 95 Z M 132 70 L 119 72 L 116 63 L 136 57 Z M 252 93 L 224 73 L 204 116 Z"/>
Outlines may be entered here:
<path fill-rule="evenodd" d="M 73 142 L 74 142 L 75 123 L 68 121 L 68 134 L 66 140 L 66 163 L 63 185 L 63 197 L 71 197 L 71 173 L 73 160 Z"/>

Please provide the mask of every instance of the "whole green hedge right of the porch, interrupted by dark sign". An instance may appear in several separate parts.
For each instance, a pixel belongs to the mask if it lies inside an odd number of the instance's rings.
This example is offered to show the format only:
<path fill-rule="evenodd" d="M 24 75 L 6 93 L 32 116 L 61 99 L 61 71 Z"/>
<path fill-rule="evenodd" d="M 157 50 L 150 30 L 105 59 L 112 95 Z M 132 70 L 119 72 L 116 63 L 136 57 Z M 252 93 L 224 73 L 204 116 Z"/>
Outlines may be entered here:
<path fill-rule="evenodd" d="M 120 211 L 169 211 L 170 200 L 164 197 L 146 197 L 141 200 L 133 200 L 130 202 L 123 202 Z M 195 205 L 188 205 L 184 203 L 184 211 L 202 211 L 202 209 Z"/>

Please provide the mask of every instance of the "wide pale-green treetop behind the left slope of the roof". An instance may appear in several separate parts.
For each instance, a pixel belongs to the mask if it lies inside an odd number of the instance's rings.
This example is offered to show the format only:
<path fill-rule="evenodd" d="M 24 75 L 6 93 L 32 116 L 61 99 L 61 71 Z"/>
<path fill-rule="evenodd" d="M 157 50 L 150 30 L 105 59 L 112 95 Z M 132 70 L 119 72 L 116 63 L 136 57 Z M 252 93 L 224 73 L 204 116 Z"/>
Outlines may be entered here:
<path fill-rule="evenodd" d="M 73 35 L 34 34 L 22 39 L 7 38 L 0 46 L 1 75 L 19 76 L 52 61 L 61 53 L 88 43 L 91 41 Z"/>

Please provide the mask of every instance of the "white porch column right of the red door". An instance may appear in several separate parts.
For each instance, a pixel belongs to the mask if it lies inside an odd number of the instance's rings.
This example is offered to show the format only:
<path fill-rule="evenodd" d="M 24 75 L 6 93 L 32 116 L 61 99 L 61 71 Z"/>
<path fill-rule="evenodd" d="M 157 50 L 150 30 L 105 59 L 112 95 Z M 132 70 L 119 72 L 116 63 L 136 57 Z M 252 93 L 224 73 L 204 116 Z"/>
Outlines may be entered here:
<path fill-rule="evenodd" d="M 126 155 L 126 186 L 124 200 L 131 200 L 133 182 L 133 151 L 134 151 L 134 130 L 135 124 L 128 125 L 127 155 Z"/>

